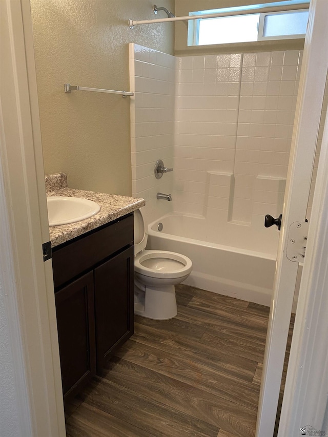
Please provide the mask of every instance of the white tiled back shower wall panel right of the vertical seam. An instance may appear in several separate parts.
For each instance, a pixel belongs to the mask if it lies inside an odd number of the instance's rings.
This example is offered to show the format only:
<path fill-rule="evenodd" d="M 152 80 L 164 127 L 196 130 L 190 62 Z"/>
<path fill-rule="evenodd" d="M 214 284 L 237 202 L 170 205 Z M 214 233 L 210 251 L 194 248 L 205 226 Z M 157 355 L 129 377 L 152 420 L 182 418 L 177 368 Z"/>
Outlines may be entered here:
<path fill-rule="evenodd" d="M 254 192 L 247 201 L 235 199 L 232 220 L 251 223 L 253 214 L 262 215 L 263 209 L 277 214 L 277 209 L 282 207 L 283 194 L 277 191 L 281 185 L 272 185 L 273 191 L 263 196 L 264 192 L 255 188 L 255 179 L 261 180 L 259 175 L 276 178 L 277 181 L 286 177 L 300 52 L 250 53 L 244 57 L 234 168 L 235 190 L 244 186 L 240 176 L 251 175 L 253 178 L 249 186 L 254 188 Z"/>

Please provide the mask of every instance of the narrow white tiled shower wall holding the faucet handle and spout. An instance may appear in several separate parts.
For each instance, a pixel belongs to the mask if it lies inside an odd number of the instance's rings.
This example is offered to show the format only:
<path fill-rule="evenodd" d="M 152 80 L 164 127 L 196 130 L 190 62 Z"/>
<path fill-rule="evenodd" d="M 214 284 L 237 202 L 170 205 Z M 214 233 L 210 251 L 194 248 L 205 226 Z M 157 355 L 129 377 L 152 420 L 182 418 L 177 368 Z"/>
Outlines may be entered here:
<path fill-rule="evenodd" d="M 148 222 L 172 211 L 172 203 L 157 200 L 158 192 L 170 194 L 173 173 L 154 175 L 162 159 L 173 167 L 175 125 L 174 56 L 130 44 L 132 195 L 146 199 Z"/>

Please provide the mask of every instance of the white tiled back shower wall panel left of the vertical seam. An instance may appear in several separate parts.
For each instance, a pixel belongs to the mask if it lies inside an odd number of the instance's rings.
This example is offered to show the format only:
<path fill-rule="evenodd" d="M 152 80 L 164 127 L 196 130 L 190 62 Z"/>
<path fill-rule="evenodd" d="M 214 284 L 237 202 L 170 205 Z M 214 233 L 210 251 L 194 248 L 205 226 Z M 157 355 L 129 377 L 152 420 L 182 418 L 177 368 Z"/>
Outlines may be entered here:
<path fill-rule="evenodd" d="M 240 76 L 240 54 L 178 60 L 174 160 L 177 183 L 173 191 L 176 211 L 207 216 L 209 209 L 223 210 L 228 219 L 230 186 L 227 190 L 227 186 L 214 181 L 226 184 L 224 174 L 229 175 L 229 181 L 232 179 Z M 181 171 L 188 169 L 189 172 Z M 198 186 L 201 196 L 196 196 L 189 191 L 193 189 L 190 182 L 194 176 L 199 179 L 199 173 L 203 176 Z"/>

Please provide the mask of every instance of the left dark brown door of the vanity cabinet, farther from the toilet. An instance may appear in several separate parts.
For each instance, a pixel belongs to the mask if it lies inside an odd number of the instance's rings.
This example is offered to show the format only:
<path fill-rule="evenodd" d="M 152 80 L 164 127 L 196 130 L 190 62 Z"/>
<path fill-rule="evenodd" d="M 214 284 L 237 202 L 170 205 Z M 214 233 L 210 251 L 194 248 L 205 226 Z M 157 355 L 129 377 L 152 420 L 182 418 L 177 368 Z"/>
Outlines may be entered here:
<path fill-rule="evenodd" d="M 93 273 L 55 293 L 64 399 L 95 374 Z"/>

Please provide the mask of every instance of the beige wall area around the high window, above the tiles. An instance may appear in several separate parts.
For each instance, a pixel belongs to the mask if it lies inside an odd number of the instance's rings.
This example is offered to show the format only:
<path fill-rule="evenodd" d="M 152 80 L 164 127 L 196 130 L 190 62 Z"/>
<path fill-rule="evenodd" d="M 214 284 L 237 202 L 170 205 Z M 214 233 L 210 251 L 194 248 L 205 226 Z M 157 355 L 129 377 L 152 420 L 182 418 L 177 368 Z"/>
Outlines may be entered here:
<path fill-rule="evenodd" d="M 188 16 L 189 12 L 207 9 L 228 8 L 258 3 L 271 3 L 279 0 L 176 0 L 176 16 Z M 175 25 L 175 54 L 190 56 L 218 53 L 253 53 L 270 52 L 273 50 L 301 50 L 304 39 L 285 39 L 275 41 L 257 41 L 256 43 L 221 44 L 219 46 L 187 46 L 187 26 L 182 23 Z"/>

